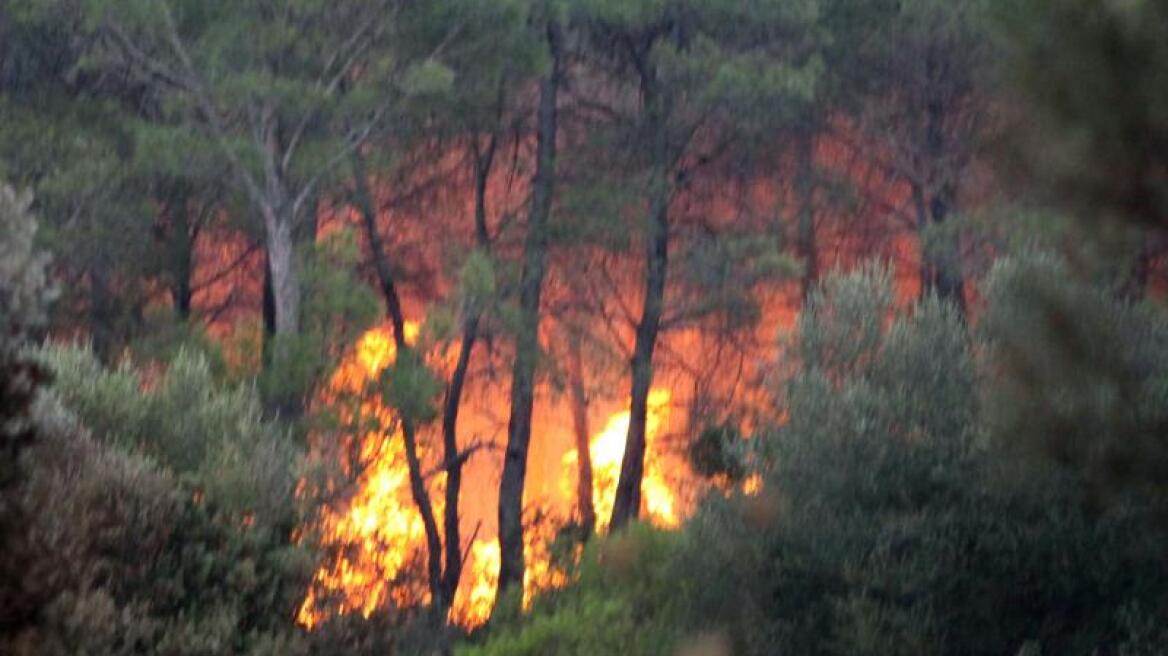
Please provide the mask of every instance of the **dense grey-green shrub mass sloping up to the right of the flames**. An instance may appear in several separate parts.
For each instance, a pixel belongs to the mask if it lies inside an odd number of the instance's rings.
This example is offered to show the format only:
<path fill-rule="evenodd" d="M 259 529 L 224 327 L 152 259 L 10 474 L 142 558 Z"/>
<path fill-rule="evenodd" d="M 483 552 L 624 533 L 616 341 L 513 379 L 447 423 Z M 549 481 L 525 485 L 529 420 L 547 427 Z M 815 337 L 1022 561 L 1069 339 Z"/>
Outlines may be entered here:
<path fill-rule="evenodd" d="M 1002 344 L 1035 326 L 1002 285 L 971 334 L 936 299 L 895 315 L 883 268 L 826 280 L 786 344 L 794 362 L 774 375 L 786 420 L 749 440 L 763 490 L 712 494 L 680 535 L 619 559 L 632 564 L 617 567 L 620 585 L 598 554 L 644 529 L 600 542 L 570 589 L 466 654 L 677 654 L 697 635 L 724 636 L 714 652 L 736 655 L 1163 652 L 1168 563 L 1149 497 L 1091 512 L 1077 468 L 1000 448 L 1018 430 L 1003 418 L 1050 411 L 1008 393 Z M 1098 348 L 1145 368 L 1140 395 L 1153 395 L 1168 323 L 1092 293 L 1066 320 L 1110 326 L 1099 339 L 1122 346 Z M 1076 381 L 1049 383 L 1087 384 Z M 1166 406 L 1147 400 L 1138 416 Z M 1124 417 L 1091 416 L 1092 434 L 1108 439 Z"/>

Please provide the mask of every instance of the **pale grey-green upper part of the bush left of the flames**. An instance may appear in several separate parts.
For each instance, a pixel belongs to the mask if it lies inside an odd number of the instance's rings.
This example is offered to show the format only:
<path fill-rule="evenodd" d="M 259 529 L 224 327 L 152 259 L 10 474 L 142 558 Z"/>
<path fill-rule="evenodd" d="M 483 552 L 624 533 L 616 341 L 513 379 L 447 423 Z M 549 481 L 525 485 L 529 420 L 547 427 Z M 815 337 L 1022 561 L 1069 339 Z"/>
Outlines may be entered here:
<path fill-rule="evenodd" d="M 106 370 L 84 349 L 42 357 L 56 395 L 102 442 L 152 459 L 236 517 L 288 519 L 298 456 L 287 432 L 263 419 L 255 389 L 221 386 L 207 360 L 186 350 L 145 391 L 128 364 Z"/>

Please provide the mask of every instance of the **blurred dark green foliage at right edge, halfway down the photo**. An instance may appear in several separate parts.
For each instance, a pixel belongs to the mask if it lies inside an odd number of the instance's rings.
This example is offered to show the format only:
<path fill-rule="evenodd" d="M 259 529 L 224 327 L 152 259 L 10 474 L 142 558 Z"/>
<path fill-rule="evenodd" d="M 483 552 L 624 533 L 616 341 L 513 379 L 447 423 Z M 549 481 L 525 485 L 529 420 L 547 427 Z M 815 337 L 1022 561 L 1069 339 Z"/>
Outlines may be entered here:
<path fill-rule="evenodd" d="M 992 435 L 1068 467 L 1092 502 L 1136 494 L 1168 510 L 1163 310 L 1078 281 L 1043 253 L 1000 261 L 985 293 Z"/>

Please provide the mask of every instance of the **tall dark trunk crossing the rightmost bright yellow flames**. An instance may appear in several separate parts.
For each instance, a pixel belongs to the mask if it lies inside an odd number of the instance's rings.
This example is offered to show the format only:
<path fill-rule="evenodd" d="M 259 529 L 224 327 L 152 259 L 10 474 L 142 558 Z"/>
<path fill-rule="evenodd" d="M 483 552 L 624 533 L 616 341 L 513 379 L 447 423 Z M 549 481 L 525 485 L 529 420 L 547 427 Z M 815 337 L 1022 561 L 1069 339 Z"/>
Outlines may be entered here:
<path fill-rule="evenodd" d="M 663 98 L 647 65 L 641 70 L 641 93 L 649 130 L 653 172 L 649 179 L 649 212 L 645 236 L 645 298 L 641 320 L 633 344 L 632 389 L 630 392 L 628 434 L 620 461 L 617 496 L 612 503 L 610 531 L 635 519 L 641 510 L 641 479 L 645 475 L 645 427 L 648 418 L 649 388 L 653 384 L 653 351 L 665 306 L 666 272 L 669 264 L 669 175 Z"/>

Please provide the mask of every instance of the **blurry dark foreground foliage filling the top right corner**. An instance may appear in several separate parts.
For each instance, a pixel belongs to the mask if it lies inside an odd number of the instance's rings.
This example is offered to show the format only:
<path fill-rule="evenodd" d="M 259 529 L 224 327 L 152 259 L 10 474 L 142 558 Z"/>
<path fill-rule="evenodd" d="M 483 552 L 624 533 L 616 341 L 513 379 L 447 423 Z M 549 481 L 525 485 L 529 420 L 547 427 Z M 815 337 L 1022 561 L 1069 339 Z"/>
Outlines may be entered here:
<path fill-rule="evenodd" d="M 1018 153 L 1091 221 L 1168 221 L 1168 6 L 1157 0 L 994 2 L 1026 102 Z"/>

